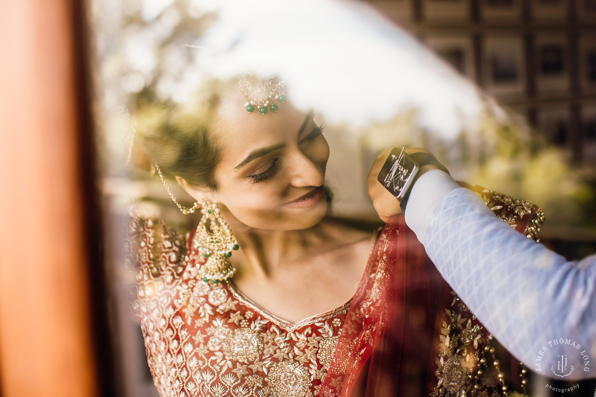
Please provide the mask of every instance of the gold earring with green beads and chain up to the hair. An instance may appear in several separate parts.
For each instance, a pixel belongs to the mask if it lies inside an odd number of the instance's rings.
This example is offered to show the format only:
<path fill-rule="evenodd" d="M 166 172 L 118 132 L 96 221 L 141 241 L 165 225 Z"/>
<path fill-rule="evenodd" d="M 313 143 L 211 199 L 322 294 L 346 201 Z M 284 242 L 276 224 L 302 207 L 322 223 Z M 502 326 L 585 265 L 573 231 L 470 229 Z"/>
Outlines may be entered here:
<path fill-rule="evenodd" d="M 184 215 L 194 213 L 198 207 L 201 207 L 203 216 L 201 216 L 201 221 L 198 222 L 197 231 L 195 232 L 194 247 L 206 258 L 203 266 L 203 281 L 213 281 L 213 283 L 218 284 L 219 281 L 232 278 L 236 269 L 228 258 L 232 256 L 232 251 L 238 250 L 238 241 L 234 238 L 228 222 L 222 218 L 219 207 L 204 199 L 198 200 L 190 208 L 182 206 L 167 185 L 162 170 L 157 164 L 154 166 L 160 179 L 162 179 L 164 187 L 166 187 L 167 193 Z"/>

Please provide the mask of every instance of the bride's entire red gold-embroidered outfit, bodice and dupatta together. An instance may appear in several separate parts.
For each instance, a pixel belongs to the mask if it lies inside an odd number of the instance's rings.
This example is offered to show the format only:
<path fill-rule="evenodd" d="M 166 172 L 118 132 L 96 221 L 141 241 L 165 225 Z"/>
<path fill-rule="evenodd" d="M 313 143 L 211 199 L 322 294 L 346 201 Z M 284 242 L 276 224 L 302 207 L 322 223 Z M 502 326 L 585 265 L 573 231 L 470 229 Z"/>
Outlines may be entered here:
<path fill-rule="evenodd" d="M 536 237 L 538 207 L 473 190 L 504 222 Z M 507 352 L 498 361 L 488 330 L 401 215 L 378 236 L 352 299 L 296 324 L 231 282 L 204 282 L 194 231 L 183 237 L 161 221 L 133 218 L 130 237 L 133 311 L 162 397 L 492 397 L 505 394 L 507 378 L 520 386 L 517 362 Z"/>

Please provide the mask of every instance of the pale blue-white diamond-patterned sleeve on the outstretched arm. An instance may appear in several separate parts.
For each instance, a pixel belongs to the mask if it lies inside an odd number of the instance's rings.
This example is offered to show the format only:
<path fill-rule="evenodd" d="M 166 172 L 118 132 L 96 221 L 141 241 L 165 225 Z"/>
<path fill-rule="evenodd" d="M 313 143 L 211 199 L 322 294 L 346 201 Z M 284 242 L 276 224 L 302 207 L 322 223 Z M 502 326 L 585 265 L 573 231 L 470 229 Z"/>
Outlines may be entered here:
<path fill-rule="evenodd" d="M 472 191 L 437 190 L 432 182 L 451 179 L 446 173 L 418 185 L 427 174 L 412 188 L 405 220 L 443 278 L 531 370 L 552 377 L 558 355 L 567 355 L 575 371 L 566 379 L 596 377 L 589 365 L 596 361 L 596 255 L 567 261 L 496 218 Z"/>

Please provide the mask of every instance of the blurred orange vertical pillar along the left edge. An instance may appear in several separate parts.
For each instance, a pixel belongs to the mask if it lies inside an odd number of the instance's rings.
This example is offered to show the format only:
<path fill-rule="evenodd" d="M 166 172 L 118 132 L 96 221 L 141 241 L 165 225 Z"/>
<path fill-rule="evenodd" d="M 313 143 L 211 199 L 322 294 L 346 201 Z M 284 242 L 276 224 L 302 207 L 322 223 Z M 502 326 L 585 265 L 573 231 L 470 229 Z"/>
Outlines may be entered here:
<path fill-rule="evenodd" d="M 2 397 L 97 394 L 72 6 L 0 3 Z"/>

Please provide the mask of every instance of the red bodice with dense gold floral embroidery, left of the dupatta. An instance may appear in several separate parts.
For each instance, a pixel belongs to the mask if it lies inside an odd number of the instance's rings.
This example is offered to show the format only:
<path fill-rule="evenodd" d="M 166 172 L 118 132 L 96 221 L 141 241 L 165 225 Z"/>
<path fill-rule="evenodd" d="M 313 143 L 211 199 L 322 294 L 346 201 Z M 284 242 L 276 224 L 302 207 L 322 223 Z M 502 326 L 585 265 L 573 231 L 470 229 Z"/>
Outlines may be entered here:
<path fill-rule="evenodd" d="M 133 312 L 162 397 L 308 397 L 333 359 L 349 303 L 298 324 L 203 281 L 201 258 L 161 221 L 133 218 Z"/>

